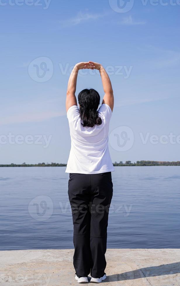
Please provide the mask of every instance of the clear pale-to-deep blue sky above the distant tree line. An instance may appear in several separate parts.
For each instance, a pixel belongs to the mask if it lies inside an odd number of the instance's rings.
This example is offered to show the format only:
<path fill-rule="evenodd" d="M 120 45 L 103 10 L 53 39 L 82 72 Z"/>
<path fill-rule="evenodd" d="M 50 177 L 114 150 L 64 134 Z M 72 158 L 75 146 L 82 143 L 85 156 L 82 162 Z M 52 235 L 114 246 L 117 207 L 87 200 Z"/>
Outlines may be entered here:
<path fill-rule="evenodd" d="M 119 13 L 118 1 L 1 1 L 1 164 L 67 163 L 68 77 L 88 60 L 103 64 L 113 85 L 113 162 L 180 160 L 180 3 L 142 0 Z M 102 99 L 100 76 L 83 72 L 77 94 L 95 88 Z"/>

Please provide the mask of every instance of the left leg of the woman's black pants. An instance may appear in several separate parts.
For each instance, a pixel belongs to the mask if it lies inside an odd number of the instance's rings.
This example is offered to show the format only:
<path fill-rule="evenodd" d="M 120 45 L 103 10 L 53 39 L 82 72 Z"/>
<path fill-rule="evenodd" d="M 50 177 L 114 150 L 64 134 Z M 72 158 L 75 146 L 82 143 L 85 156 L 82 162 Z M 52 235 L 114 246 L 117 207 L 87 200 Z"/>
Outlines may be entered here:
<path fill-rule="evenodd" d="M 68 195 L 74 225 L 73 265 L 78 276 L 88 276 L 91 271 L 90 250 L 90 175 L 70 173 Z"/>

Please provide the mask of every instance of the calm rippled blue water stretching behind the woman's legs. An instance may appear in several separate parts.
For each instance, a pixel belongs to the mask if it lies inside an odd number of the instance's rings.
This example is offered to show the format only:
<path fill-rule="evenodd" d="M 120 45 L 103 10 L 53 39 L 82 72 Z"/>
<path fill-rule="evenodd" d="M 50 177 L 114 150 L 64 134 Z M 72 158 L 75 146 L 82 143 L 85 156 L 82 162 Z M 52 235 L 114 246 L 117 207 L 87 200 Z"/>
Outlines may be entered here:
<path fill-rule="evenodd" d="M 180 167 L 115 167 L 108 248 L 179 248 Z M 0 250 L 73 248 L 65 167 L 0 168 Z"/>

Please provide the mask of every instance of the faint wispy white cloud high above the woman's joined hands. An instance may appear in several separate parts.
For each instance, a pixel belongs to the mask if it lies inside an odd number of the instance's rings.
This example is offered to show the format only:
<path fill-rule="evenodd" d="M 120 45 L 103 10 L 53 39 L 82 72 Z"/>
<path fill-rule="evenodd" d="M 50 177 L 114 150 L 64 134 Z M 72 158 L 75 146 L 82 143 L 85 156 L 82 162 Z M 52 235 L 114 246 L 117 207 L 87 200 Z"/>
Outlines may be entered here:
<path fill-rule="evenodd" d="M 82 22 L 87 22 L 89 20 L 97 20 L 99 18 L 103 18 L 106 15 L 107 15 L 107 13 L 102 13 L 102 14 L 95 14 L 94 13 L 94 14 L 92 14 L 92 13 L 88 13 L 88 12 L 83 13 L 82 11 L 80 11 L 76 15 L 76 17 L 67 19 L 65 21 L 61 21 L 61 24 L 63 27 L 75 26 L 75 25 L 81 24 Z"/>

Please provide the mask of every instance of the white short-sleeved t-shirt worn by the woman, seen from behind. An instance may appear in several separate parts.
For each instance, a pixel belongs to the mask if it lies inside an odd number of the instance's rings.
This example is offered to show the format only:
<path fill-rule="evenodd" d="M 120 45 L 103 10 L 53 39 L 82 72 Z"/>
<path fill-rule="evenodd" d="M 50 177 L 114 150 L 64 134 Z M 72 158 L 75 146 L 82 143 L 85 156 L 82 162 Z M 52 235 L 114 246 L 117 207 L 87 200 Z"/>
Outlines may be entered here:
<path fill-rule="evenodd" d="M 99 174 L 115 170 L 108 148 L 112 111 L 109 105 L 102 104 L 98 112 L 102 124 L 83 127 L 77 105 L 68 109 L 71 150 L 66 173 Z"/>

